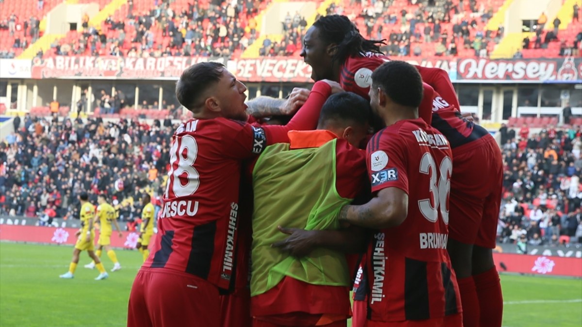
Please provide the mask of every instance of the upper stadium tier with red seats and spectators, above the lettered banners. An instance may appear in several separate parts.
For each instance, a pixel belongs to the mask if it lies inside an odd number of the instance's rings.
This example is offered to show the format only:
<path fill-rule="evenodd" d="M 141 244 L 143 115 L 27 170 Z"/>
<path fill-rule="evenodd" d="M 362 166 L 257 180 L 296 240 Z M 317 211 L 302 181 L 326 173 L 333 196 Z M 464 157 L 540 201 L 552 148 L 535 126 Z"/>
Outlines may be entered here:
<path fill-rule="evenodd" d="M 37 0 L 4 1 L 0 15 L 0 56 L 15 58 L 37 40 L 42 35 L 42 17 L 60 2 L 45 0 L 42 9 L 37 9 Z M 265 0 L 240 1 L 236 5 L 223 2 L 219 6 L 210 0 L 123 0 L 120 6 L 111 0 L 74 2 L 97 2 L 101 12 L 91 19 L 87 17 L 86 24 L 53 42 L 51 51 L 46 51 L 44 56 L 237 58 L 255 40 L 262 41 L 260 55 L 297 56 L 310 20 L 298 13 L 289 15 L 281 22 L 284 34 L 269 40 L 261 38 L 255 20 L 267 8 Z M 336 2 L 331 2 L 328 14 L 346 15 L 366 37 L 385 39 L 388 44 L 382 50 L 391 56 L 487 57 L 503 38 L 502 27 L 492 27 L 496 21 L 491 18 L 506 0 Z M 582 43 L 580 7 L 574 8 L 578 10 L 574 14 L 572 8 L 566 8 L 571 3 L 565 2 L 565 9 L 556 16 L 563 20 L 559 24 L 559 37 L 554 34 L 553 22 L 545 24 L 545 29 L 524 33 L 523 49 L 515 54 L 516 58 L 572 55 L 577 51 Z M 108 12 L 111 15 L 104 16 Z M 572 17 L 566 19 L 565 15 Z"/>

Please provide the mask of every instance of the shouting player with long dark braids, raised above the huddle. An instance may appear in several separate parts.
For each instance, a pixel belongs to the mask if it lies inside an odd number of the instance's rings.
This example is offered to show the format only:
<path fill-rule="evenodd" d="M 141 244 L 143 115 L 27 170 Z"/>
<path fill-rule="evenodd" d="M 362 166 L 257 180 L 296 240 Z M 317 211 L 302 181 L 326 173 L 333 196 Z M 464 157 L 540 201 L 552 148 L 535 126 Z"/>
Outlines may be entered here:
<path fill-rule="evenodd" d="M 381 42 L 365 40 L 345 16 L 320 17 L 303 42 L 301 56 L 313 69 L 312 79 L 336 80 L 357 94 L 368 92 L 372 71 L 389 61 L 379 51 Z M 459 279 L 464 325 L 478 326 L 481 319 L 481 325 L 501 326 L 501 283 L 492 256 L 501 201 L 501 152 L 487 130 L 463 118 L 446 72 L 416 67 L 434 88 L 424 86 L 419 115 L 448 138 L 455 158 L 448 250 Z M 488 173 L 474 175 L 475 167 Z"/>

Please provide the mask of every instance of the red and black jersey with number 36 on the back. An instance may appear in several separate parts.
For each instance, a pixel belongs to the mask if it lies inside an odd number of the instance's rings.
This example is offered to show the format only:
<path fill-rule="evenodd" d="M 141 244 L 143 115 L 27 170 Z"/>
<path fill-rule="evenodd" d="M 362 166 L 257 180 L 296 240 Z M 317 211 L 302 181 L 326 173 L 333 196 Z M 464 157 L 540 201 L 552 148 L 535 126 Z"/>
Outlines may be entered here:
<path fill-rule="evenodd" d="M 372 193 L 398 187 L 409 195 L 402 225 L 374 233 L 367 253 L 372 321 L 423 320 L 461 312 L 446 251 L 452 154 L 422 119 L 401 120 L 371 138 Z"/>

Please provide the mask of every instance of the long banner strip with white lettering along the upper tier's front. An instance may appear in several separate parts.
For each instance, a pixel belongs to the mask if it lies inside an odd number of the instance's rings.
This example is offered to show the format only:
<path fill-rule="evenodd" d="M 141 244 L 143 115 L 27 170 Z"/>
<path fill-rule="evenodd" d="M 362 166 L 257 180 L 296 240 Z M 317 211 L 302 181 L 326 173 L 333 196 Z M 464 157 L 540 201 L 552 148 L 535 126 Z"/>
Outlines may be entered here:
<path fill-rule="evenodd" d="M 582 83 L 582 58 L 484 59 L 395 57 L 439 67 L 457 83 Z M 198 62 L 221 62 L 246 82 L 311 83 L 311 67 L 301 58 L 226 59 L 208 57 L 121 58 L 54 56 L 33 61 L 0 59 L 0 78 L 175 80 Z M 361 76 L 365 78 L 367 76 Z M 357 78 L 357 76 L 356 76 Z"/>

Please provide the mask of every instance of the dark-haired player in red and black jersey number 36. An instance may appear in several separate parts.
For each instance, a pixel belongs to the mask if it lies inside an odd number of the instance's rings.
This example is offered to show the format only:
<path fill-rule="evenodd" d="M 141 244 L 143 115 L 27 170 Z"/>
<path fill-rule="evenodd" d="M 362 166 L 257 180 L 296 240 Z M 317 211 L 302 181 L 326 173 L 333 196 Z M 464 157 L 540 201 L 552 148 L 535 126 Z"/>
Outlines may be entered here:
<path fill-rule="evenodd" d="M 373 198 L 340 219 L 377 229 L 367 253 L 367 326 L 462 326 L 446 241 L 452 153 L 418 118 L 423 98 L 414 66 L 391 61 L 372 74 L 370 104 L 386 123 L 368 143 Z"/>

